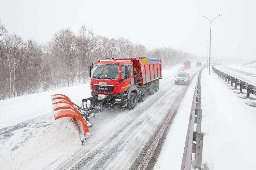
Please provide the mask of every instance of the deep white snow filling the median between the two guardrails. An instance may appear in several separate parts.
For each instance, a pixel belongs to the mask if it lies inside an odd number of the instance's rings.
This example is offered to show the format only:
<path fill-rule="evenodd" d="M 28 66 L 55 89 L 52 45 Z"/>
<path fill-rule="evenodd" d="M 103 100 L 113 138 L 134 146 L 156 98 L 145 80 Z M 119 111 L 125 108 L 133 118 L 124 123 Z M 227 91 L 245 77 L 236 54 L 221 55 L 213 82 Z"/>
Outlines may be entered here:
<path fill-rule="evenodd" d="M 210 76 L 206 70 L 202 72 L 201 92 L 202 163 L 211 170 L 255 169 L 256 109 L 246 103 L 256 104 L 256 97 L 244 99 L 245 94 L 212 70 Z"/>

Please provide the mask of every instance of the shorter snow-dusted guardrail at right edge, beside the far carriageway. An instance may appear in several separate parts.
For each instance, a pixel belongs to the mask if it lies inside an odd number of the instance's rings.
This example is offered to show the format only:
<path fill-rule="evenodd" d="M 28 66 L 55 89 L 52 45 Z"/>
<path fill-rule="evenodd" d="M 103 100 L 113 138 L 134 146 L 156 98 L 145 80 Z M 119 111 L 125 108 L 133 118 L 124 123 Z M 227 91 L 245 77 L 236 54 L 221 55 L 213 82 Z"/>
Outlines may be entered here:
<path fill-rule="evenodd" d="M 214 66 L 212 66 L 212 69 L 219 77 L 223 78 L 223 80 L 225 80 L 225 81 L 228 81 L 228 84 L 230 82 L 230 86 L 234 85 L 234 88 L 236 90 L 237 90 L 237 86 L 240 86 L 240 93 L 242 93 L 243 89 L 245 89 L 246 90 L 246 98 L 250 98 L 250 94 L 256 95 L 256 87 L 253 86 L 252 84 L 242 81 L 236 77 L 230 76 L 230 75 L 218 70 Z"/>

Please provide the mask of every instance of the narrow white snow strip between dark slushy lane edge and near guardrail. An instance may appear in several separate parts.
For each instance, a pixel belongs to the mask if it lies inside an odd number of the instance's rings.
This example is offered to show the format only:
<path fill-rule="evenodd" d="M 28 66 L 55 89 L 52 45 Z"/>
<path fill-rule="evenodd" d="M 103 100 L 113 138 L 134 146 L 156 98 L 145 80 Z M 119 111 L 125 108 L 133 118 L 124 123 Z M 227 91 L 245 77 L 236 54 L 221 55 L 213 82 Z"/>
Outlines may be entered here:
<path fill-rule="evenodd" d="M 169 129 L 166 140 L 154 169 L 180 169 L 187 136 L 191 104 L 193 101 L 198 74 L 191 81 L 175 119 Z"/>

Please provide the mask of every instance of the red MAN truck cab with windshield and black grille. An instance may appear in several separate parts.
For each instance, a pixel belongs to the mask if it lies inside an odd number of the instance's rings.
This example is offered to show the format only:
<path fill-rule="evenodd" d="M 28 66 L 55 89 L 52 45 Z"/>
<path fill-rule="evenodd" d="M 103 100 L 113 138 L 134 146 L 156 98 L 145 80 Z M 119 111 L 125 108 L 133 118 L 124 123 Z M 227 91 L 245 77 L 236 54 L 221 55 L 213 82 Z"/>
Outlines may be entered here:
<path fill-rule="evenodd" d="M 94 62 L 90 74 L 91 90 L 95 93 L 114 95 L 134 84 L 131 60 L 101 60 Z"/>

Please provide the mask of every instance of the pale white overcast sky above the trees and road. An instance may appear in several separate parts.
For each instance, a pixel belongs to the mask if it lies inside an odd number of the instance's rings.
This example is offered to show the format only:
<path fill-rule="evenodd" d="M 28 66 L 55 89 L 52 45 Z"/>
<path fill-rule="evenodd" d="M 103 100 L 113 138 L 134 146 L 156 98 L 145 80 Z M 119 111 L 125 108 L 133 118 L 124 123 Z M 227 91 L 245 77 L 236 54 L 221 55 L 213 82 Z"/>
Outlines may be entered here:
<path fill-rule="evenodd" d="M 81 25 L 96 35 L 125 37 L 147 48 L 172 47 L 207 56 L 256 60 L 255 0 L 0 0 L 0 19 L 10 33 L 48 42 L 61 28 Z"/>

